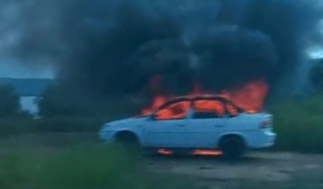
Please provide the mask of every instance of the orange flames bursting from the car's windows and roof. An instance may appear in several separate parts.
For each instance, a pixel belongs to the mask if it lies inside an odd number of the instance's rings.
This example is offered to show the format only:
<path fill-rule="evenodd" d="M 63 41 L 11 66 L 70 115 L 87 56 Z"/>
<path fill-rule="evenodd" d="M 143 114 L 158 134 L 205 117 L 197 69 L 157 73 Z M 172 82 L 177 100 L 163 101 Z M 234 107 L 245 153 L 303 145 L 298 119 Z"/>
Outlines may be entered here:
<path fill-rule="evenodd" d="M 247 83 L 244 86 L 236 88 L 234 90 L 224 90 L 220 94 L 209 94 L 203 92 L 200 85 L 195 84 L 193 92 L 188 95 L 188 97 L 194 96 L 207 96 L 207 95 L 218 95 L 230 99 L 235 106 L 244 110 L 246 113 L 257 113 L 262 111 L 264 100 L 268 92 L 268 86 L 263 80 L 256 80 L 250 83 Z M 153 99 L 150 108 L 142 110 L 143 115 L 149 115 L 161 105 L 167 101 L 166 96 L 158 95 Z M 225 105 L 225 107 L 224 107 Z M 212 112 L 221 116 L 224 114 L 225 109 L 229 111 L 230 114 L 236 115 L 237 110 L 230 104 L 223 104 L 219 101 L 207 101 L 207 100 L 198 100 L 193 103 L 194 109 L 199 112 Z M 170 105 L 169 107 L 160 110 L 156 113 L 157 119 L 180 119 L 185 116 L 189 110 L 190 102 L 182 101 Z"/>

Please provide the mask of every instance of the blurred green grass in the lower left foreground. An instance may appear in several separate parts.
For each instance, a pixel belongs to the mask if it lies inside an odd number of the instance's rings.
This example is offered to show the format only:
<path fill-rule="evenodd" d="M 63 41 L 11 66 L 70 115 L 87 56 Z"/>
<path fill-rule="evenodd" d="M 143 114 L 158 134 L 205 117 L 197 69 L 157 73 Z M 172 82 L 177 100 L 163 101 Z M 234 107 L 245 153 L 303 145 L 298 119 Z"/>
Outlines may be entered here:
<path fill-rule="evenodd" d="M 119 148 L 99 144 L 55 150 L 7 148 L 0 155 L 0 188 L 184 188 L 167 177 L 148 174 L 137 158 Z"/>

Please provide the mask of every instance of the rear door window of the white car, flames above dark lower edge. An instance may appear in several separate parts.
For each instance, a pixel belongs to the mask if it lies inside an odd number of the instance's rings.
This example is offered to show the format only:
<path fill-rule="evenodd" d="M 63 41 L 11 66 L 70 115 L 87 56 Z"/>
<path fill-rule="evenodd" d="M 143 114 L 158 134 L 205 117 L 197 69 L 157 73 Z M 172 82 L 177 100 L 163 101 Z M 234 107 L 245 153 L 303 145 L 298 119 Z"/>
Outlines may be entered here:
<path fill-rule="evenodd" d="M 196 100 L 193 109 L 194 119 L 221 118 L 225 114 L 225 106 L 218 100 Z"/>

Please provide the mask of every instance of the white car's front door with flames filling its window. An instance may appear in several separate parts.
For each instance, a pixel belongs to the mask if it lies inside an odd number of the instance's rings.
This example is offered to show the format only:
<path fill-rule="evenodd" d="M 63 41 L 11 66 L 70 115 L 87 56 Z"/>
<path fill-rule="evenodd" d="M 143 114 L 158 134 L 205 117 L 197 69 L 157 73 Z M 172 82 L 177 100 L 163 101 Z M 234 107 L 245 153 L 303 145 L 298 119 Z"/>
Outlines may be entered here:
<path fill-rule="evenodd" d="M 144 126 L 145 142 L 150 147 L 184 147 L 185 124 L 190 101 L 181 101 L 170 104 L 159 110 L 149 119 Z M 175 107 L 175 108 L 174 108 Z M 181 107 L 182 111 L 174 113 L 176 107 Z"/>

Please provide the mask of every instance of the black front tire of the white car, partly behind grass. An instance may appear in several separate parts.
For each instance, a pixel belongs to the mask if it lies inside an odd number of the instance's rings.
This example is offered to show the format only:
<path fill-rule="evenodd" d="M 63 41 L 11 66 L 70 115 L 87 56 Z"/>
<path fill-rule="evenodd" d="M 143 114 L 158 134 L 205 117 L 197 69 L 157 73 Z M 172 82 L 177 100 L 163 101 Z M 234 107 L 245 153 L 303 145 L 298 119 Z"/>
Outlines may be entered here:
<path fill-rule="evenodd" d="M 137 136 L 128 131 L 122 131 L 115 137 L 117 145 L 126 149 L 127 151 L 139 153 L 141 146 Z"/>

